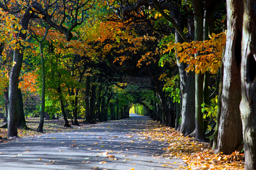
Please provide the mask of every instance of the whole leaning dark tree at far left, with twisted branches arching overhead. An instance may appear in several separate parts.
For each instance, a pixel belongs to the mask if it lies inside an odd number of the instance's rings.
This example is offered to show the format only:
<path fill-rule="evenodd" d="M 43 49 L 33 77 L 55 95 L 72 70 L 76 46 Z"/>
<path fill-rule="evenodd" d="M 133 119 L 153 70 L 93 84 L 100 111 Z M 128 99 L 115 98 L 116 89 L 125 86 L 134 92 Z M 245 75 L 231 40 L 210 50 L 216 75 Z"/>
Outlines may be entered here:
<path fill-rule="evenodd" d="M 21 4 L 19 4 L 21 3 Z M 74 3 L 72 1 L 53 1 L 53 2 L 32 2 L 31 4 L 23 3 L 22 1 L 15 2 L 9 1 L 8 4 L 2 4 L 0 7 L 9 12 L 9 13 L 18 13 L 22 12 L 21 26 L 24 30 L 28 29 L 29 20 L 31 18 L 42 18 L 45 20 L 51 27 L 60 31 L 60 33 L 65 34 L 66 39 L 69 41 L 73 37 L 71 31 L 77 25 L 81 24 L 84 20 L 84 12 L 94 4 L 94 1 L 90 4 L 90 1 L 77 1 Z M 46 4 L 43 4 L 46 3 Z M 58 4 L 62 4 L 58 6 Z M 51 7 L 55 5 L 56 7 L 52 9 Z M 44 6 L 44 8 L 43 8 Z M 25 10 L 25 11 L 24 11 Z M 57 10 L 57 11 L 56 11 Z M 56 12 L 56 13 L 55 13 Z M 59 18 L 58 14 L 62 13 L 63 15 Z M 71 16 L 67 17 L 66 12 Z M 49 13 L 51 15 L 49 15 Z M 81 15 L 80 15 L 81 14 Z M 79 15 L 79 16 L 78 16 Z M 67 18 L 71 18 L 73 22 L 69 28 L 63 26 L 64 22 L 67 22 Z M 60 20 L 58 20 L 60 19 Z M 57 22 L 56 22 L 57 21 Z M 26 39 L 26 31 L 20 30 L 17 37 L 20 39 Z M 18 42 L 16 43 L 18 44 Z M 24 46 L 21 46 L 20 49 L 15 49 L 13 61 L 16 63 L 10 72 L 10 85 L 9 85 L 9 104 L 8 104 L 8 136 L 16 136 L 17 132 L 17 110 L 18 104 L 16 98 L 18 97 L 18 78 L 21 71 L 22 60 L 23 60 L 23 50 Z"/>

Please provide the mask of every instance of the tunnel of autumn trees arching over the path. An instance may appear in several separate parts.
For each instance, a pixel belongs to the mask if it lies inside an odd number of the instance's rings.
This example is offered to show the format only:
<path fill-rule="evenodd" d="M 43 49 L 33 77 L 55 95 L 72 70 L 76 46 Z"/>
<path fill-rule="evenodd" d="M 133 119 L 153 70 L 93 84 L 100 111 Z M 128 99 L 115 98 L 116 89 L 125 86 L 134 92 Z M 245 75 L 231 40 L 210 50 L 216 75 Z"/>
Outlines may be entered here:
<path fill-rule="evenodd" d="M 256 169 L 253 0 L 0 1 L 0 117 L 153 120 Z M 250 18 L 250 19 L 248 19 Z M 227 41 L 226 41 L 227 39 Z M 135 105 L 134 105 L 135 104 Z"/>

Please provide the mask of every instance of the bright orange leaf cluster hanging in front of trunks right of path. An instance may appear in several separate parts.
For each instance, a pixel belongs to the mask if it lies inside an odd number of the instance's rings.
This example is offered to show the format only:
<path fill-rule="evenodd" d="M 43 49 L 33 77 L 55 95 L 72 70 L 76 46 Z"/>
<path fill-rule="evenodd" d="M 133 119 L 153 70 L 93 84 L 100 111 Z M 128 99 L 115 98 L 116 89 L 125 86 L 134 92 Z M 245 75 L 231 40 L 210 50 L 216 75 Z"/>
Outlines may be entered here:
<path fill-rule="evenodd" d="M 226 44 L 225 33 L 212 34 L 209 36 L 211 39 L 207 41 L 192 41 L 190 43 L 172 43 L 167 45 L 164 53 L 175 50 L 179 62 L 188 64 L 185 69 L 187 72 L 190 70 L 198 74 L 210 71 L 215 74 L 221 65 L 221 55 Z M 195 56 L 197 54 L 197 56 Z"/>

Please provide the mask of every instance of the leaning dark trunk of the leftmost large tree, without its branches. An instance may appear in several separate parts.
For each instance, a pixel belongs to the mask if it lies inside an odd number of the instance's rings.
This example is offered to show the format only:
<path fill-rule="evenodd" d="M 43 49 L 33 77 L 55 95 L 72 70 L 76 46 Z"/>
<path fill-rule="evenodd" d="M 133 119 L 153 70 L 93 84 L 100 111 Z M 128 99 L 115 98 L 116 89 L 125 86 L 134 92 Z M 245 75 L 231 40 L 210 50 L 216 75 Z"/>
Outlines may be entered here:
<path fill-rule="evenodd" d="M 33 15 L 33 14 L 30 14 L 30 12 L 29 12 L 31 10 L 32 10 L 32 7 L 28 6 L 23 15 L 23 18 L 21 20 L 21 26 L 24 30 L 28 29 L 29 20 Z M 20 37 L 21 39 L 25 39 L 26 33 L 23 34 L 20 30 L 18 37 Z M 21 66 L 22 66 L 22 60 L 23 60 L 23 54 L 24 54 L 23 49 L 24 49 L 24 47 L 21 47 L 20 50 L 18 50 L 18 49 L 14 50 L 13 61 L 16 62 L 16 64 L 12 67 L 11 72 L 10 72 L 9 102 L 8 102 L 8 132 L 7 132 L 8 136 L 17 136 L 18 135 L 17 109 L 20 109 L 20 108 L 17 108 L 17 106 L 19 106 L 17 96 L 18 96 L 19 76 L 20 76 L 20 72 L 21 72 Z M 21 53 L 20 53 L 20 51 L 21 51 Z"/>

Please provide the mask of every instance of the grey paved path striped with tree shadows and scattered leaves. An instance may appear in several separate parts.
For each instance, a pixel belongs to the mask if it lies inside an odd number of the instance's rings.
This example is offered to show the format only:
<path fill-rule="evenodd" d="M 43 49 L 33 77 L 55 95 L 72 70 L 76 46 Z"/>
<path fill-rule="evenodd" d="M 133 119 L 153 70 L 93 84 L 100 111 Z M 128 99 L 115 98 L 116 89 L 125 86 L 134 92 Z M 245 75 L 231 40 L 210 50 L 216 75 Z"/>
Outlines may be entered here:
<path fill-rule="evenodd" d="M 169 170 L 183 164 L 181 159 L 159 157 L 168 144 L 136 135 L 147 128 L 149 117 L 130 116 L 74 132 L 1 143 L 0 169 Z"/>

